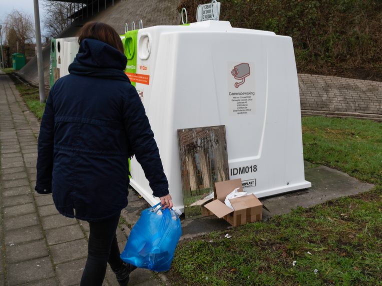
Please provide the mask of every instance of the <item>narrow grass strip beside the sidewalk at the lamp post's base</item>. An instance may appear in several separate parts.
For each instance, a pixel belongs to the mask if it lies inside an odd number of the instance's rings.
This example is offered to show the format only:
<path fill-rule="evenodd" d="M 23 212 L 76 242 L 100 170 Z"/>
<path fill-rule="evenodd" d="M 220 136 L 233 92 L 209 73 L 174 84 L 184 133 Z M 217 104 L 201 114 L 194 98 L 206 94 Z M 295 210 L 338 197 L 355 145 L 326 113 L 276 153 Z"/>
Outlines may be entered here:
<path fill-rule="evenodd" d="M 29 110 L 31 110 L 35 116 L 41 120 L 45 110 L 45 103 L 40 103 L 39 88 L 26 85 L 12 75 L 11 78 L 15 82 L 16 88 L 20 92 L 23 100 L 27 103 Z"/>

